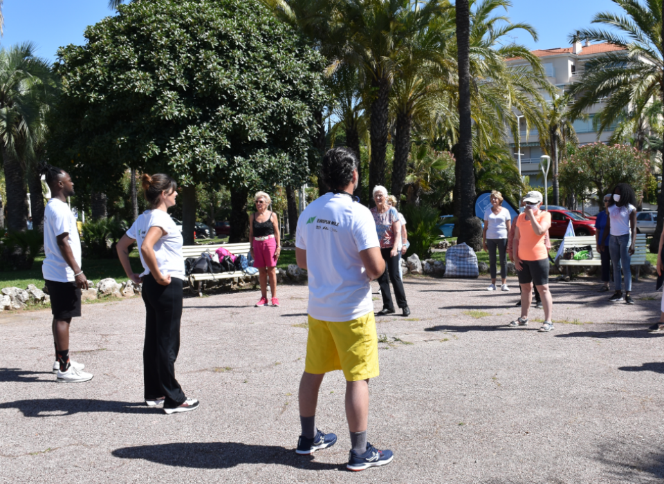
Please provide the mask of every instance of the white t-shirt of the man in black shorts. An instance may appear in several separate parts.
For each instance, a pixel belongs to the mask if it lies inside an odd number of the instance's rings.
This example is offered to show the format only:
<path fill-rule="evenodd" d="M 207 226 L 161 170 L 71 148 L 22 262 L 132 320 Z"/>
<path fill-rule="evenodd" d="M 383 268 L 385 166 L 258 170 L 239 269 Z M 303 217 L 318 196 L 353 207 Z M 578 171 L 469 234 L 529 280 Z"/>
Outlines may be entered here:
<path fill-rule="evenodd" d="M 76 218 L 69 210 L 69 205 L 57 198 L 50 198 L 44 210 L 44 253 L 42 274 L 47 281 L 73 282 L 74 271 L 66 263 L 57 246 L 57 236 L 69 234 L 69 247 L 74 259 L 81 267 L 81 238 L 76 226 Z"/>

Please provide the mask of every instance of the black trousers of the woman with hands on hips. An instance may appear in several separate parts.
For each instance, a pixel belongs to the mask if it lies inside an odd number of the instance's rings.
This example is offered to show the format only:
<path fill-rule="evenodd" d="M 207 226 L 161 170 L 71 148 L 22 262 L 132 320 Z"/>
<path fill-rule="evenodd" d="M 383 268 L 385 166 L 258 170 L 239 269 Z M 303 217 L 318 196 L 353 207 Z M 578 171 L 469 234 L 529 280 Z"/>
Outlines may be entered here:
<path fill-rule="evenodd" d="M 162 286 L 152 274 L 143 277 L 145 400 L 165 397 L 164 407 L 167 409 L 178 407 L 187 400 L 175 379 L 175 360 L 180 352 L 182 286 L 182 279 L 172 278 L 168 286 Z"/>

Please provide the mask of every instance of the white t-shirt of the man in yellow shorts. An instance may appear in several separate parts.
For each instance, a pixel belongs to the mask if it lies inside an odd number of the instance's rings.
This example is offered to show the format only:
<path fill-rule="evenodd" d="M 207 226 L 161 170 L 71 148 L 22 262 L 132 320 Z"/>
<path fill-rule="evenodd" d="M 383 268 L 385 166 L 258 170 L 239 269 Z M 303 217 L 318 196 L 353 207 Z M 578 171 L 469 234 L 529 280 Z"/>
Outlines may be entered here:
<path fill-rule="evenodd" d="M 300 214 L 295 246 L 306 250 L 311 317 L 348 322 L 374 310 L 360 259 L 360 251 L 380 247 L 367 207 L 344 194 L 324 194 Z"/>

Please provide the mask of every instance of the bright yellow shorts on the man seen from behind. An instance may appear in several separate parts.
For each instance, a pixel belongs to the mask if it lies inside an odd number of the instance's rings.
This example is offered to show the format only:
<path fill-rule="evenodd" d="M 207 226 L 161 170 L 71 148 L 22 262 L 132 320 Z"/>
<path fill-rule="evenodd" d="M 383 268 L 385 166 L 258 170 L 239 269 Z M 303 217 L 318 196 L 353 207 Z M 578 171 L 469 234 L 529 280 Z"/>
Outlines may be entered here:
<path fill-rule="evenodd" d="M 343 370 L 349 382 L 378 376 L 378 337 L 374 312 L 347 322 L 309 316 L 304 371 L 320 375 Z"/>

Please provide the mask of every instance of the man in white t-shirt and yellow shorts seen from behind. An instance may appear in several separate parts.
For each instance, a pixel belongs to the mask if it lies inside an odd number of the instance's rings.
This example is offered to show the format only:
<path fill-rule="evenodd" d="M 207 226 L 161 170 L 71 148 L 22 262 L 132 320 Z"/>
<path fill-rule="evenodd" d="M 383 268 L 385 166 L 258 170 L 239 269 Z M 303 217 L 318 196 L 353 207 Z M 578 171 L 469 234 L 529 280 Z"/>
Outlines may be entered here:
<path fill-rule="evenodd" d="M 330 447 L 335 434 L 315 426 L 318 390 L 325 373 L 343 370 L 351 433 L 347 468 L 360 471 L 391 462 L 392 452 L 367 443 L 369 378 L 378 376 L 378 338 L 371 279 L 385 272 L 374 217 L 351 194 L 358 186 L 358 157 L 334 148 L 321 173 L 330 193 L 313 201 L 297 221 L 297 265 L 308 270 L 308 339 L 299 384 L 302 435 L 297 454 Z"/>

